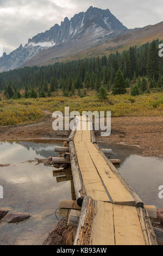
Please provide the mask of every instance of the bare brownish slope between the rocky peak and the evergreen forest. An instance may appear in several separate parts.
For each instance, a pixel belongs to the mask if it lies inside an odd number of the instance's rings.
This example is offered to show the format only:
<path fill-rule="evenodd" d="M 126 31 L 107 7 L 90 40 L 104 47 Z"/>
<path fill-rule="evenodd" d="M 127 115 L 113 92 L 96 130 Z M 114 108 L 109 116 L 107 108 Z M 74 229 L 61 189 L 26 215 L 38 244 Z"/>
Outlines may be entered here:
<path fill-rule="evenodd" d="M 60 48 L 57 55 L 58 57 L 55 57 L 56 52 L 53 49 L 43 51 L 35 58 L 24 63 L 22 66 L 49 65 L 59 61 L 65 62 L 68 60 L 102 56 L 104 54 L 109 55 L 117 50 L 122 52 L 124 49 L 127 49 L 130 46 L 140 46 L 156 39 L 163 39 L 163 22 L 153 26 L 149 25 L 144 28 L 128 29 L 125 31 L 125 33 L 123 32 L 122 35 L 118 35 L 115 38 L 107 40 L 102 44 L 90 47 L 84 51 L 82 51 L 82 48 L 79 51 L 78 48 L 74 47 L 74 44 L 71 44 L 69 48 Z"/>

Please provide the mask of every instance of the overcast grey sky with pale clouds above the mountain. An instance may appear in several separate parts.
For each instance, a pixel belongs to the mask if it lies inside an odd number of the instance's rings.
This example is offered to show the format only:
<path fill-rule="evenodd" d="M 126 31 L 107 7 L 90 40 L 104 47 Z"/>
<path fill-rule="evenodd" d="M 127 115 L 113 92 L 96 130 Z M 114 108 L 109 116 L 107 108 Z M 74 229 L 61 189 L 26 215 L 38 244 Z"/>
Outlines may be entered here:
<path fill-rule="evenodd" d="M 0 44 L 9 53 L 90 5 L 109 9 L 128 28 L 163 21 L 162 0 L 0 0 Z"/>

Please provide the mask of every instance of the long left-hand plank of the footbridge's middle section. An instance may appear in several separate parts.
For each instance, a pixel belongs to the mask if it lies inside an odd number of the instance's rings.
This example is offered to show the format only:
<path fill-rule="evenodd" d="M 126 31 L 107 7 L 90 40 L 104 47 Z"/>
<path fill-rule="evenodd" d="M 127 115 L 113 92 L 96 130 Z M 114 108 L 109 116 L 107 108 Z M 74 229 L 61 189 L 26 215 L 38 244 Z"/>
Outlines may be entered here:
<path fill-rule="evenodd" d="M 95 200 L 110 202 L 85 143 L 76 144 L 76 153 L 87 196 Z"/>

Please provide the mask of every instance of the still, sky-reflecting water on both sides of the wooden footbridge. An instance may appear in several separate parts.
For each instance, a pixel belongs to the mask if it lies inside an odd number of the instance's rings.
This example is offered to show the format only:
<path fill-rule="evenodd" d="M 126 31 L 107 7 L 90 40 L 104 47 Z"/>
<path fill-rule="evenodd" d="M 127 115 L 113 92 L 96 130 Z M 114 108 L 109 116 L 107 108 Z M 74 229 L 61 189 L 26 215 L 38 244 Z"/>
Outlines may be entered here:
<path fill-rule="evenodd" d="M 69 176 L 59 179 L 53 176 L 54 167 L 26 162 L 35 157 L 57 156 L 55 145 L 62 143 L 18 141 L 0 144 L 0 163 L 10 163 L 9 167 L 0 167 L 0 185 L 4 188 L 0 209 L 32 215 L 27 221 L 17 224 L 0 223 L 0 245 L 41 245 L 57 224 L 54 212 L 59 200 L 74 199 L 73 182 Z M 136 147 L 109 143 L 99 145 L 111 148 L 112 157 L 121 159 L 118 170 L 143 202 L 163 209 L 163 199 L 158 197 L 158 188 L 163 185 L 163 161 L 140 156 L 142 150 Z"/>

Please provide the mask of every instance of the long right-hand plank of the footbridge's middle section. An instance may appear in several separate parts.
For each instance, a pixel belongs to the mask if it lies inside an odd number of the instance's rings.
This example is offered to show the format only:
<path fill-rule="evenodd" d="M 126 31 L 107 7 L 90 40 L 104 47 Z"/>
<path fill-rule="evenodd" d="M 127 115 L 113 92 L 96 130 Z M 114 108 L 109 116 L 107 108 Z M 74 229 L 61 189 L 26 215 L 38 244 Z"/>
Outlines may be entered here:
<path fill-rule="evenodd" d="M 110 194 L 112 201 L 116 204 L 135 205 L 135 200 L 126 190 L 121 181 L 111 171 L 108 164 L 104 161 L 101 154 L 92 143 L 85 143 L 96 170 L 104 182 L 107 191 Z"/>

